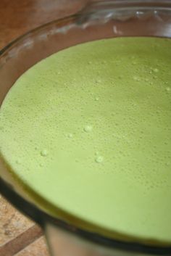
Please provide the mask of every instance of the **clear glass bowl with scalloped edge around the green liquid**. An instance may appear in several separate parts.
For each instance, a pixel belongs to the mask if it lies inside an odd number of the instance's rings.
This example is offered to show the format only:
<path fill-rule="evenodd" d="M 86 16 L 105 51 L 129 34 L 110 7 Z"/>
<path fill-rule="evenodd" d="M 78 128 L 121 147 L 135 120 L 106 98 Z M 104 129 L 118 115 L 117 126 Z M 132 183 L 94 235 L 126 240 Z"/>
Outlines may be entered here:
<path fill-rule="evenodd" d="M 68 46 L 117 36 L 170 38 L 171 1 L 89 1 L 75 15 L 21 36 L 0 52 L 0 104 L 15 80 L 41 59 Z M 1 157 L 0 191 L 43 227 L 52 255 L 171 255 L 171 244 L 111 233 L 51 205 L 22 187 Z"/>

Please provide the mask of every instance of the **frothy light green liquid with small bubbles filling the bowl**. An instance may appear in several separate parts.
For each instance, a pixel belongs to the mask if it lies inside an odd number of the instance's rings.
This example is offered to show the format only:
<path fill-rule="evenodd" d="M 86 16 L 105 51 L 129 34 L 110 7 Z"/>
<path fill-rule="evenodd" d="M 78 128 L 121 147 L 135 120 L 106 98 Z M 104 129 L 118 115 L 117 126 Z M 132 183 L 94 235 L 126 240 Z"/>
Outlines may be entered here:
<path fill-rule="evenodd" d="M 1 106 L 0 146 L 52 205 L 171 243 L 171 40 L 93 41 L 39 62 Z"/>

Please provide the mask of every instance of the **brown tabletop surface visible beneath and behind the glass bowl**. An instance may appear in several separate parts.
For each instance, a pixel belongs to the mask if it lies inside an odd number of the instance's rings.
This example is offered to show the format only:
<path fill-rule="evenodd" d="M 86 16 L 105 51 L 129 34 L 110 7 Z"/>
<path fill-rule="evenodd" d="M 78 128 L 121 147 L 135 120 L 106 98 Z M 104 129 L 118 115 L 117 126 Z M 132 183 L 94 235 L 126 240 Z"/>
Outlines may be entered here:
<path fill-rule="evenodd" d="M 0 49 L 43 23 L 70 15 L 86 0 L 0 0 Z M 0 255 L 47 256 L 43 231 L 0 195 Z"/>

